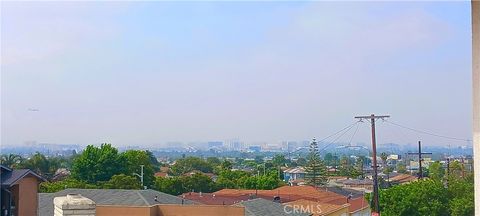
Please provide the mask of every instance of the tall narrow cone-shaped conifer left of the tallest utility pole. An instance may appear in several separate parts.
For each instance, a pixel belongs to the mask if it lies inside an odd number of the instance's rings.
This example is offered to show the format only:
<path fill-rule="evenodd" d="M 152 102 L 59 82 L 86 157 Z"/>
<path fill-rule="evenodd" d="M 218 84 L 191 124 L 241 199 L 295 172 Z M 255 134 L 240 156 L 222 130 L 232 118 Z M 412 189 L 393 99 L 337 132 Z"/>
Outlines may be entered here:
<path fill-rule="evenodd" d="M 318 152 L 318 144 L 313 139 L 310 144 L 310 152 L 308 154 L 308 163 L 305 167 L 305 181 L 312 186 L 320 186 L 327 183 L 327 168 L 320 159 Z"/>

